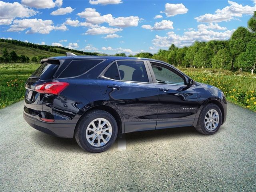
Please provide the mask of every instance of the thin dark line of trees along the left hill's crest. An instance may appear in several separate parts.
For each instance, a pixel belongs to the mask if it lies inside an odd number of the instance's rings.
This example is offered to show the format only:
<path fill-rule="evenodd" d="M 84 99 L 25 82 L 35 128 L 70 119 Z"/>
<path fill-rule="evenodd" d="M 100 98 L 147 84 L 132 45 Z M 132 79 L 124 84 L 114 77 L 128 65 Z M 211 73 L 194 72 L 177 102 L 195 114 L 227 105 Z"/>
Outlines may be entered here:
<path fill-rule="evenodd" d="M 34 43 L 30 43 L 30 42 L 23 42 L 23 41 L 14 40 L 14 39 L 13 40 L 0 39 L 0 42 L 6 42 L 6 43 L 11 43 L 11 44 L 20 45 L 20 46 L 26 46 L 26 47 L 30 47 L 30 48 L 50 51 L 50 52 L 59 53 L 59 54 L 66 54 L 66 51 L 58 50 L 56 48 L 61 48 L 61 49 L 67 50 L 67 52 L 68 51 L 69 52 L 77 52 L 77 53 L 84 54 L 84 55 L 93 55 L 93 56 L 98 55 L 98 53 L 96 53 L 96 52 L 83 52 L 80 50 L 74 50 L 74 49 L 61 47 L 61 46 L 38 45 L 38 44 L 34 44 Z"/>

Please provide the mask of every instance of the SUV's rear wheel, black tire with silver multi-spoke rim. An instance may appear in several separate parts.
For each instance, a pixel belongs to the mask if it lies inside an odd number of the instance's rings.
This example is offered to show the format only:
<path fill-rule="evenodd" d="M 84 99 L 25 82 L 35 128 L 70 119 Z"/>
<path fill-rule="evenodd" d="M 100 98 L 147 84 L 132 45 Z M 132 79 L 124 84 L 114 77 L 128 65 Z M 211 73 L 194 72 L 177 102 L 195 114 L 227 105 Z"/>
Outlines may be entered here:
<path fill-rule="evenodd" d="M 76 125 L 78 145 L 89 152 L 107 150 L 117 137 L 118 127 L 114 117 L 104 110 L 92 110 L 82 116 Z"/>

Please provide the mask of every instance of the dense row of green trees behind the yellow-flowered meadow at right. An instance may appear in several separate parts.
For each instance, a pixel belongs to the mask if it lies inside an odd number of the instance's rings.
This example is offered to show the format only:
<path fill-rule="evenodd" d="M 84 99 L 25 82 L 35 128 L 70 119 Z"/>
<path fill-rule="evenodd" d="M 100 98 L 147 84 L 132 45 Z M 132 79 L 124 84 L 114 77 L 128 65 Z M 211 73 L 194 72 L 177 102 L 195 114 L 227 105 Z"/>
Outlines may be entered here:
<path fill-rule="evenodd" d="M 172 44 L 168 50 L 160 49 L 156 54 L 138 53 L 134 57 L 162 60 L 174 66 L 251 71 L 253 74 L 256 67 L 256 12 L 248 21 L 248 28 L 238 27 L 229 40 L 196 41 L 183 48 Z"/>

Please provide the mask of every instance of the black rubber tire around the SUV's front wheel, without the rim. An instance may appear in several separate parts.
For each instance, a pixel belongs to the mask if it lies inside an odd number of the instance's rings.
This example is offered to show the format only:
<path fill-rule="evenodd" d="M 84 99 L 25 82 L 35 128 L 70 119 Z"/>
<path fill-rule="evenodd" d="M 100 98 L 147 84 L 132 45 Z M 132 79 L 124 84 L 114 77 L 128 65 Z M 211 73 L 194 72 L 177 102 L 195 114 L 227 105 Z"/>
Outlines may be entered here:
<path fill-rule="evenodd" d="M 206 129 L 206 126 L 204 124 L 205 116 L 206 116 L 207 112 L 211 109 L 216 110 L 219 114 L 218 126 L 212 131 Z M 222 124 L 222 113 L 221 113 L 220 108 L 216 104 L 210 103 L 210 104 L 207 104 L 206 106 L 204 106 L 204 108 L 202 109 L 202 111 L 199 115 L 199 118 L 198 118 L 198 122 L 197 122 L 197 125 L 196 125 L 196 130 L 198 132 L 204 134 L 204 135 L 213 135 L 219 130 L 221 124 Z"/>

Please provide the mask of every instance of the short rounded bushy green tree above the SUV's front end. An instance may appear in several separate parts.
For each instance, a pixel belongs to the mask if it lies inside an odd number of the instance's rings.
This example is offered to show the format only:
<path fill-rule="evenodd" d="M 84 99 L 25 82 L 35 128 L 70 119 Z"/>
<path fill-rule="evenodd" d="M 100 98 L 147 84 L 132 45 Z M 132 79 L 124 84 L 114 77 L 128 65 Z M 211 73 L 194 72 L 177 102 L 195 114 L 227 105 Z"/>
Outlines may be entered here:
<path fill-rule="evenodd" d="M 212 58 L 212 67 L 217 69 L 231 70 L 232 57 L 227 48 L 220 49 L 218 53 Z"/>

